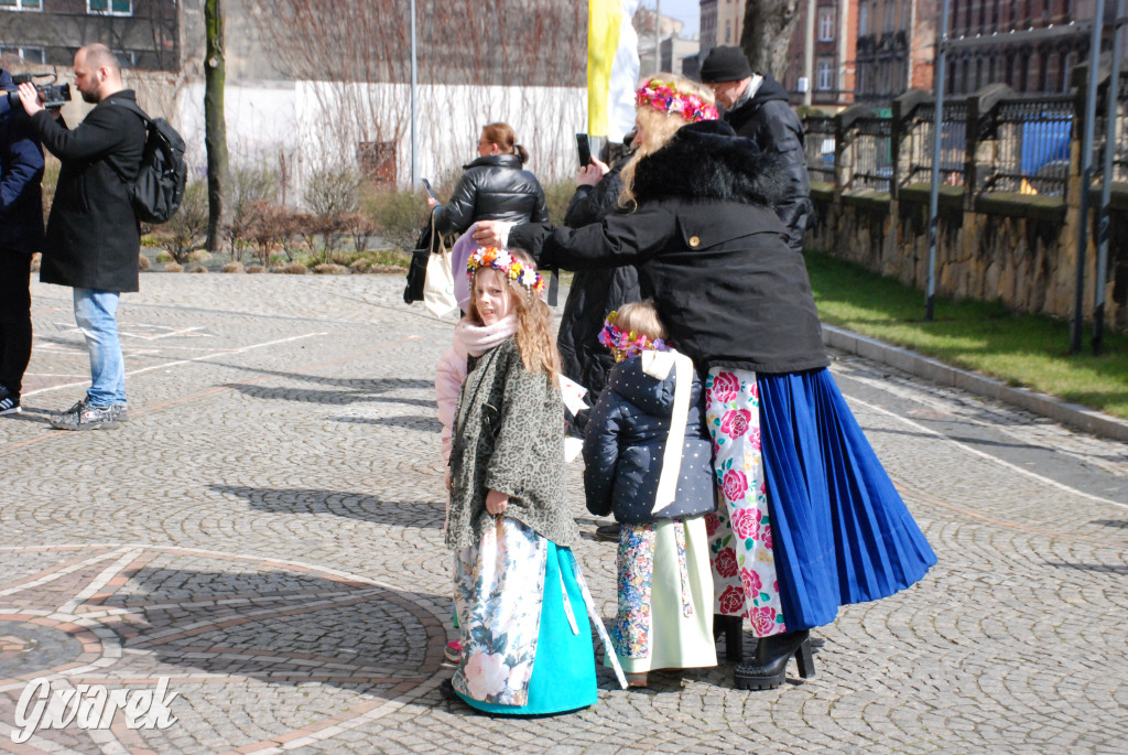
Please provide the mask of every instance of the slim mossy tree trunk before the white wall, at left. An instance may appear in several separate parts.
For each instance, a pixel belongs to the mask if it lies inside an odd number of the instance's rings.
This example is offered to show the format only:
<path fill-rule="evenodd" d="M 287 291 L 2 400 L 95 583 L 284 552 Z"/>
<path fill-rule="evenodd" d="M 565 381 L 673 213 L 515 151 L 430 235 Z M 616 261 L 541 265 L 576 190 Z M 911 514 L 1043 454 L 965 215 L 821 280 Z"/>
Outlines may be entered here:
<path fill-rule="evenodd" d="M 204 56 L 204 147 L 208 150 L 208 251 L 217 252 L 223 235 L 223 192 L 227 187 L 227 118 L 223 86 L 223 3 L 204 0 L 208 50 Z"/>

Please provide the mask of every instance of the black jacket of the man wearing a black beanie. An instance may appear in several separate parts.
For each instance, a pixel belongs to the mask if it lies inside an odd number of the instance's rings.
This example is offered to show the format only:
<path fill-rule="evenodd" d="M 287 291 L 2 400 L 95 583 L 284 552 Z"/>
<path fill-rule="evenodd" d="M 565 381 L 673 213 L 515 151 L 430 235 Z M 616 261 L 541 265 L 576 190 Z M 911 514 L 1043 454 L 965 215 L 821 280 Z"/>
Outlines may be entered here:
<path fill-rule="evenodd" d="M 787 227 L 787 243 L 803 251 L 803 235 L 811 217 L 811 183 L 807 176 L 803 124 L 787 103 L 787 91 L 770 76 L 749 99 L 724 114 L 725 122 L 768 152 L 783 158 L 786 183 L 776 203 L 776 214 Z"/>

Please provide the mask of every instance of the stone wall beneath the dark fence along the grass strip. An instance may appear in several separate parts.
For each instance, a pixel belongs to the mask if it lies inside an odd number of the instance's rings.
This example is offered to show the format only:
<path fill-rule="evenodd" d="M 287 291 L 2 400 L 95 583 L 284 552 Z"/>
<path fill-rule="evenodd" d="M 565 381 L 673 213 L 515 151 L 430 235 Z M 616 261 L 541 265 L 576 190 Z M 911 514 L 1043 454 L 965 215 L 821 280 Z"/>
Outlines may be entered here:
<path fill-rule="evenodd" d="M 1128 187 L 1125 187 L 1128 190 Z M 1074 192 L 1069 192 L 1070 195 Z M 925 289 L 928 266 L 926 192 L 898 200 L 879 192 L 813 192 L 816 227 L 807 246 Z M 1094 193 L 1094 203 L 1099 196 Z M 1079 209 L 1023 195 L 984 195 L 967 210 L 959 195 L 941 203 L 935 290 L 957 299 L 998 300 L 1021 313 L 1072 318 Z M 1105 325 L 1128 331 L 1128 191 L 1116 192 L 1105 283 Z M 946 207 L 945 207 L 946 204 Z M 1095 228 L 1095 211 L 1090 213 Z M 1092 315 L 1096 248 L 1085 260 L 1086 318 Z"/>

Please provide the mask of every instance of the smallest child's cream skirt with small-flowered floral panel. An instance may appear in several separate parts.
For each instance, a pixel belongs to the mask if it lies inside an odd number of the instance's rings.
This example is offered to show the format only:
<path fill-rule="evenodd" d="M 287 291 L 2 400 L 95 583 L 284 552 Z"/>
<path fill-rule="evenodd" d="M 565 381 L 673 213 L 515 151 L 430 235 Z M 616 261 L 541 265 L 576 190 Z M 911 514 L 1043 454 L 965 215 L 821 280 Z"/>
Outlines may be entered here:
<path fill-rule="evenodd" d="M 611 643 L 628 674 L 716 666 L 704 517 L 623 525 Z"/>

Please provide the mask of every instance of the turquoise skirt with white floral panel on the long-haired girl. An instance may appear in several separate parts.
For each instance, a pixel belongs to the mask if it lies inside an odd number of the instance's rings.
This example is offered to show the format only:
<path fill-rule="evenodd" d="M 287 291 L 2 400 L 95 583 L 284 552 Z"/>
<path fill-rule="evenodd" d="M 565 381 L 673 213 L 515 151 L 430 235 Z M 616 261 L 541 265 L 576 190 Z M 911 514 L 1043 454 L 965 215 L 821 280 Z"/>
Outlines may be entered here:
<path fill-rule="evenodd" d="M 455 553 L 462 657 L 451 682 L 467 704 L 538 716 L 596 703 L 582 579 L 570 548 L 506 517 Z"/>

